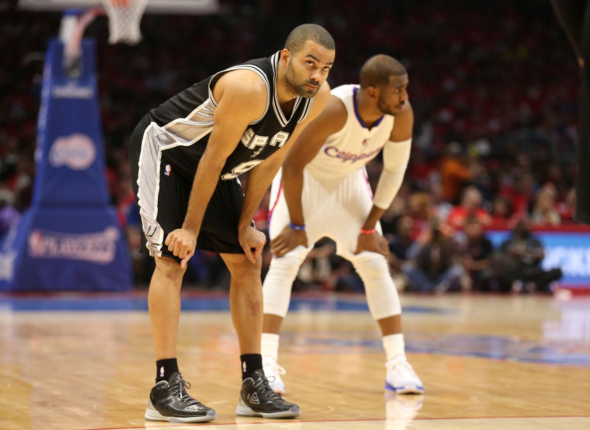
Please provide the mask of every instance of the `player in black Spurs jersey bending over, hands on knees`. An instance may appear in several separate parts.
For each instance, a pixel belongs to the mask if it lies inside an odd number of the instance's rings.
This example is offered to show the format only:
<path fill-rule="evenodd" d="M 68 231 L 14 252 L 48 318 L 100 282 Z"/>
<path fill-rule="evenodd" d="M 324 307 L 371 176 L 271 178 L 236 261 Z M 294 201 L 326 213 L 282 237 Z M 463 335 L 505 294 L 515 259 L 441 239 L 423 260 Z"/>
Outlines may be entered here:
<path fill-rule="evenodd" d="M 156 259 L 148 301 L 157 373 L 146 419 L 215 419 L 215 411 L 186 393 L 176 362 L 179 293 L 195 248 L 219 252 L 231 273 L 243 381 L 236 413 L 300 414 L 299 406 L 273 392 L 262 370 L 260 268 L 266 238 L 252 218 L 289 146 L 326 105 L 330 88 L 324 82 L 334 58 L 325 29 L 300 25 L 283 50 L 187 88 L 150 111 L 133 132 L 130 167 L 142 248 Z M 248 170 L 244 195 L 237 177 Z"/>

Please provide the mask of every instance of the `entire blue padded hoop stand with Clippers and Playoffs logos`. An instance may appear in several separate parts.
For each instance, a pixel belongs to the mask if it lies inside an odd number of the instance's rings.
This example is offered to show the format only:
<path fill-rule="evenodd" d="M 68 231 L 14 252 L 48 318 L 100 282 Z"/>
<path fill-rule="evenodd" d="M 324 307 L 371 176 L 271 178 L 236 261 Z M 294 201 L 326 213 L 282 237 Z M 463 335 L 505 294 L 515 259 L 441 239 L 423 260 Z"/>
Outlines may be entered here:
<path fill-rule="evenodd" d="M 109 204 L 94 42 L 81 74 L 63 73 L 63 44 L 50 43 L 38 121 L 31 208 L 0 244 L 0 290 L 105 291 L 132 287 L 126 241 Z"/>

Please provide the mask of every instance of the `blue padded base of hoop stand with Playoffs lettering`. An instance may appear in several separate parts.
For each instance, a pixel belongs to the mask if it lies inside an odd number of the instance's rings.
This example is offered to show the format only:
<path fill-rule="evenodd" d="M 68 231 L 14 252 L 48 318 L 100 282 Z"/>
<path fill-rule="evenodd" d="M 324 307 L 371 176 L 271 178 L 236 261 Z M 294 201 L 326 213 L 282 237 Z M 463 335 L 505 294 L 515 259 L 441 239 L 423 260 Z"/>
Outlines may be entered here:
<path fill-rule="evenodd" d="M 0 291 L 121 291 L 131 285 L 114 209 L 31 208 L 0 247 Z"/>

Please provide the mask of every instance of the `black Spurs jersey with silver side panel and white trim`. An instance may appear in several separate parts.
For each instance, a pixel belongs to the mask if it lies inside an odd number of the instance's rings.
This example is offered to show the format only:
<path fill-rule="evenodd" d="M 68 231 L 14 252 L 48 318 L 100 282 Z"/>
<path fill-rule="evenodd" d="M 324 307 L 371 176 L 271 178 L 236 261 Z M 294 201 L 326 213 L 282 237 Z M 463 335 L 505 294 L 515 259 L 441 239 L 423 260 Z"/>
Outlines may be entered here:
<path fill-rule="evenodd" d="M 313 99 L 297 97 L 293 112 L 289 118 L 285 117 L 277 97 L 278 60 L 279 52 L 270 58 L 257 58 L 222 70 L 150 111 L 151 123 L 144 141 L 151 140 L 152 148 L 146 148 L 143 142 L 143 156 L 147 156 L 146 152 L 152 153 L 186 178 L 194 178 L 213 129 L 217 106 L 212 91 L 215 83 L 228 71 L 246 69 L 257 73 L 266 83 L 266 110 L 246 129 L 221 170 L 221 179 L 234 179 L 262 163 L 285 145 L 297 124 L 307 117 L 313 103 Z"/>

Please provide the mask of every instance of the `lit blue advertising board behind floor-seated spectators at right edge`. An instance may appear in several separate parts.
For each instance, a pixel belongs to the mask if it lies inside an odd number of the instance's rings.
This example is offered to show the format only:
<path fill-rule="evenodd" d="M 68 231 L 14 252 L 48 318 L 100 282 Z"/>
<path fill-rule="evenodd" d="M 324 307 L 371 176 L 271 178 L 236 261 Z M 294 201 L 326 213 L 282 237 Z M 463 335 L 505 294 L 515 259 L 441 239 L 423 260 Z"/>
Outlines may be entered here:
<path fill-rule="evenodd" d="M 490 230 L 486 233 L 495 248 L 510 239 L 512 233 L 503 230 Z M 563 277 L 559 280 L 562 287 L 590 288 L 590 230 L 551 229 L 536 230 L 533 235 L 543 243 L 545 270 L 559 267 Z"/>

